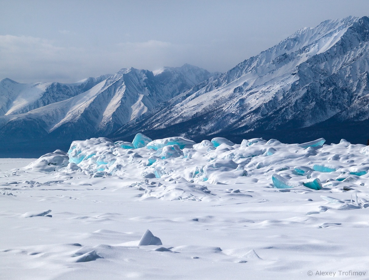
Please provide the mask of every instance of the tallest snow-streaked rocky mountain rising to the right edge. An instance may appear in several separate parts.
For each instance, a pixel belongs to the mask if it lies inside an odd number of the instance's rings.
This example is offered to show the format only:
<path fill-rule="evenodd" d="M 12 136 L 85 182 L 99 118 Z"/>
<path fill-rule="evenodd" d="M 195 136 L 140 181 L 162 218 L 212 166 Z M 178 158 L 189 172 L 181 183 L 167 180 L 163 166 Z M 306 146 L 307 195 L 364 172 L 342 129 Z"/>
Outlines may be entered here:
<path fill-rule="evenodd" d="M 368 42 L 368 17 L 303 28 L 126 124 L 113 138 L 144 132 L 240 140 L 247 134 L 289 143 L 318 137 L 366 143 L 369 134 L 360 127 L 369 123 Z"/>

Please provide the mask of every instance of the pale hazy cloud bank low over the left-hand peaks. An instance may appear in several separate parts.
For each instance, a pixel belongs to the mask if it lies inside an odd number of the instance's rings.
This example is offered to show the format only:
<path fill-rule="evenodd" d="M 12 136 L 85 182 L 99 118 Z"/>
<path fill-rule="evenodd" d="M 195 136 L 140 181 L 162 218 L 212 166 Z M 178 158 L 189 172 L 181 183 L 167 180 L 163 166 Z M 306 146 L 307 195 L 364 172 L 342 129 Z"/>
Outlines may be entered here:
<path fill-rule="evenodd" d="M 0 79 L 18 82 L 74 82 L 112 74 L 121 68 L 158 69 L 180 66 L 189 45 L 158 40 L 122 42 L 109 47 L 62 47 L 30 36 L 0 35 Z"/>

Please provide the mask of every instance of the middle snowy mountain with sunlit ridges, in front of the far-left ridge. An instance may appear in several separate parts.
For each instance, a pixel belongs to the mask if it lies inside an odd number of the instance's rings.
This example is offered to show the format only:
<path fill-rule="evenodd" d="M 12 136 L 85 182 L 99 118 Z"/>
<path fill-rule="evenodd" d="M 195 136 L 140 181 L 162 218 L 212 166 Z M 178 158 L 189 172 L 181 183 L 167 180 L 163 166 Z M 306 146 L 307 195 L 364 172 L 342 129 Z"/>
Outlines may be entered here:
<path fill-rule="evenodd" d="M 105 136 L 209 76 L 208 71 L 191 65 L 167 67 L 155 75 L 148 70 L 121 69 L 69 99 L 0 117 L 0 140 L 52 139 L 70 143 Z"/>

